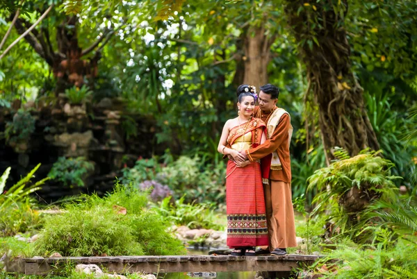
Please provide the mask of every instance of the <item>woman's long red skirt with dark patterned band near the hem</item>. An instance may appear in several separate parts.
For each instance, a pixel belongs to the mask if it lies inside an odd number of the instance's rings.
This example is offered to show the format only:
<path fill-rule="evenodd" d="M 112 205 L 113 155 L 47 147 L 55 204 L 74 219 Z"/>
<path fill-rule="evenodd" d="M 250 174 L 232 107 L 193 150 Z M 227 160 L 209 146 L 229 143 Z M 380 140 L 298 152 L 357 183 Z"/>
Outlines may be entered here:
<path fill-rule="evenodd" d="M 238 168 L 227 163 L 227 246 L 268 246 L 261 165 L 252 162 Z"/>

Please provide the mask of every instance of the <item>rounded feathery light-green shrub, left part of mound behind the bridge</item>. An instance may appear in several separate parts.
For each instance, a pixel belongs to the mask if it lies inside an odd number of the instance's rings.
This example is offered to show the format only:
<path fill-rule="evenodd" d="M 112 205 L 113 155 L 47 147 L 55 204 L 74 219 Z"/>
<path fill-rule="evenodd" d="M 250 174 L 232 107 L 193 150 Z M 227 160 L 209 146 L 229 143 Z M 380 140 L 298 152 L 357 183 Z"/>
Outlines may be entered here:
<path fill-rule="evenodd" d="M 65 210 L 45 221 L 35 242 L 40 255 L 143 255 L 142 246 L 133 238 L 133 229 L 123 220 L 126 216 L 106 206 L 85 208 L 70 204 Z"/>

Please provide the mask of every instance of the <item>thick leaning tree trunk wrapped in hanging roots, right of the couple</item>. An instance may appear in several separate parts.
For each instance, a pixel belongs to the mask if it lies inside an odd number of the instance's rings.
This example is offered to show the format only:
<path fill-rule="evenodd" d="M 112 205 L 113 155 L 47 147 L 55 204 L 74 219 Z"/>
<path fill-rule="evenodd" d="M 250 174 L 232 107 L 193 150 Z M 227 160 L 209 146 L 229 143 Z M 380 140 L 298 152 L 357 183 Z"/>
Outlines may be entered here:
<path fill-rule="evenodd" d="M 341 2 L 347 11 L 347 0 Z M 313 9 L 308 1 L 287 0 L 286 13 L 295 40 L 300 43 L 307 78 L 318 104 L 319 126 L 329 162 L 334 158 L 335 146 L 352 156 L 368 147 L 377 150 L 379 144 L 363 103 L 363 89 L 352 72 L 344 19 L 333 8 L 323 7 L 326 4 L 314 3 Z M 321 28 L 312 27 L 311 17 L 317 16 L 321 17 Z"/>

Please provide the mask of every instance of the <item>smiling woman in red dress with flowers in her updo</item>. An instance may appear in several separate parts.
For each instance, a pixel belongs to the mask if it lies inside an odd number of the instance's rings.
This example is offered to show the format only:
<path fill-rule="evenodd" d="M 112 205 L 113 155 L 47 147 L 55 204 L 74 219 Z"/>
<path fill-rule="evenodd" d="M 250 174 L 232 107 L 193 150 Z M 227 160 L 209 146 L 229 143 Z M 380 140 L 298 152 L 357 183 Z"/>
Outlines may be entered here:
<path fill-rule="evenodd" d="M 243 158 L 240 151 L 265 141 L 265 123 L 252 117 L 255 87 L 240 85 L 237 95 L 238 117 L 226 121 L 218 145 L 220 153 L 236 162 Z M 255 255 L 254 246 L 268 245 L 261 166 L 236 162 L 229 160 L 226 172 L 227 246 L 234 249 L 231 255 Z"/>

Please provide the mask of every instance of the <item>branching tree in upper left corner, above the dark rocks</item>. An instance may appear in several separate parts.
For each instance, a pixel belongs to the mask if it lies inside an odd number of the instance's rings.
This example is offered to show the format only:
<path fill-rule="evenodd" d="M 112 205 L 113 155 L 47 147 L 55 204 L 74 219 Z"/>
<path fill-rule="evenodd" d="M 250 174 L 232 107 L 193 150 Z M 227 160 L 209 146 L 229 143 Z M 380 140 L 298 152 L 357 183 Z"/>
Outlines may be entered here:
<path fill-rule="evenodd" d="M 33 51 L 47 63 L 58 84 L 56 92 L 73 85 L 81 87 L 85 82 L 92 83 L 92 78 L 98 74 L 97 64 L 104 46 L 113 37 L 123 39 L 126 31 L 136 33 L 139 18 L 145 14 L 137 13 L 142 6 L 130 2 L 54 3 L 56 5 L 49 6 L 45 1 L 10 1 L 1 17 L 6 17 L 10 30 L 14 27 L 18 35 L 24 35 Z M 16 37 L 8 32 L 5 42 L 9 34 L 13 39 Z M 6 51 L 2 56 L 7 58 Z"/>

